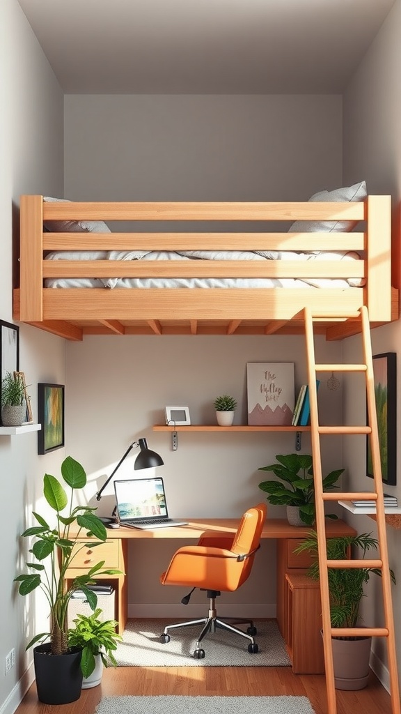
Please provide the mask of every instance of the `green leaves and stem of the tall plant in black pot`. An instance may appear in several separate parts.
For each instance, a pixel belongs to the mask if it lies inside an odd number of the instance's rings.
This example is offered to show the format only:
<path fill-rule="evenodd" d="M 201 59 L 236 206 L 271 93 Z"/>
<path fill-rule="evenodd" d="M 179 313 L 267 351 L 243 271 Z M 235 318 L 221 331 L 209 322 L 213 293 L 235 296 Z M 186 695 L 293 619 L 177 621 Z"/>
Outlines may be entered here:
<path fill-rule="evenodd" d="M 70 488 L 68 495 L 63 484 L 55 476 L 46 473 L 44 476 L 44 498 L 56 512 L 56 521 L 50 525 L 44 516 L 32 511 L 39 525 L 26 528 L 23 538 L 34 538 L 29 554 L 34 562 L 26 563 L 29 574 L 21 574 L 14 578 L 19 583 L 20 595 L 29 595 L 40 588 L 46 596 L 50 610 L 50 632 L 36 635 L 26 646 L 26 649 L 36 643 L 50 638 L 51 654 L 61 655 L 68 652 L 67 609 L 71 595 L 76 590 L 83 590 L 91 610 L 96 609 L 97 595 L 88 585 L 94 585 L 98 575 L 116 575 L 120 570 L 109 568 L 103 570 L 104 560 L 93 565 L 87 573 L 77 575 L 66 587 L 66 570 L 73 567 L 73 559 L 82 548 L 96 548 L 107 538 L 106 528 L 90 506 L 73 507 L 74 492 L 86 486 L 86 473 L 78 461 L 67 456 L 61 464 L 61 476 Z M 66 508 L 67 507 L 67 508 Z M 66 508 L 66 511 L 64 509 Z M 96 540 L 78 540 L 79 538 L 94 538 Z M 44 561 L 47 561 L 46 568 Z"/>

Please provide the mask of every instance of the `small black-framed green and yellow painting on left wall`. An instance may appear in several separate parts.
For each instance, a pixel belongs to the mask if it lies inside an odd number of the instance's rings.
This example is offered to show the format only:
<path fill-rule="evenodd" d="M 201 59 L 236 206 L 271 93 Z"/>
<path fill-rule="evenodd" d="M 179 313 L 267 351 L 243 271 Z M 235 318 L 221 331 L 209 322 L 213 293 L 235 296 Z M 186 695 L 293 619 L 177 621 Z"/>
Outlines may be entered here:
<path fill-rule="evenodd" d="M 38 453 L 64 446 L 64 385 L 38 384 Z"/>

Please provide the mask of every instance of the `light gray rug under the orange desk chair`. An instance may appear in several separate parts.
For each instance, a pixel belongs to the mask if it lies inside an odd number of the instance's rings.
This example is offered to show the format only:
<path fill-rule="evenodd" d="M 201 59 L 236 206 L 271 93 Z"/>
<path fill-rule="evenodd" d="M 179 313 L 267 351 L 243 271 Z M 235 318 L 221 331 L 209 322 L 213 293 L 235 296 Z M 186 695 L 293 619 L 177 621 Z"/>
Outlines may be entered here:
<path fill-rule="evenodd" d="M 202 626 L 171 630 L 171 640 L 163 645 L 160 635 L 168 620 L 128 620 L 123 642 L 118 644 L 119 667 L 288 667 L 290 660 L 275 620 L 255 620 L 258 653 L 248 652 L 248 642 L 240 635 L 218 629 L 203 640 L 205 658 L 193 658 Z M 245 627 L 244 627 L 245 629 Z"/>

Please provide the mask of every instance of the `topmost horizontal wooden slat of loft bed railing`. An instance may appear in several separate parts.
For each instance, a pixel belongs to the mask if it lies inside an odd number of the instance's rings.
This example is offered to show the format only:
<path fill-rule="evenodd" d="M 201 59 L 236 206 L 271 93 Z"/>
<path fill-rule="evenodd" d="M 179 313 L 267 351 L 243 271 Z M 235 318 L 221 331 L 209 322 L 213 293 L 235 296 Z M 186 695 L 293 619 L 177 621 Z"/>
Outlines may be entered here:
<path fill-rule="evenodd" d="M 71 201 L 44 203 L 43 212 L 47 221 L 363 221 L 365 203 Z"/>

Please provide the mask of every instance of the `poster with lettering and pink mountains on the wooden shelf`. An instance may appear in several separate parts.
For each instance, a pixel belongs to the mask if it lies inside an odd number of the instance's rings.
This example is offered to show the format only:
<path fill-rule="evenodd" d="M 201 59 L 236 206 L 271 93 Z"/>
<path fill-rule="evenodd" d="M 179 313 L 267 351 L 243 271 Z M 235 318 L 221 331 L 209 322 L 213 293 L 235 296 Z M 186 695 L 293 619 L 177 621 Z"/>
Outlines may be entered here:
<path fill-rule="evenodd" d="M 291 426 L 295 403 L 293 362 L 248 362 L 248 426 Z"/>

